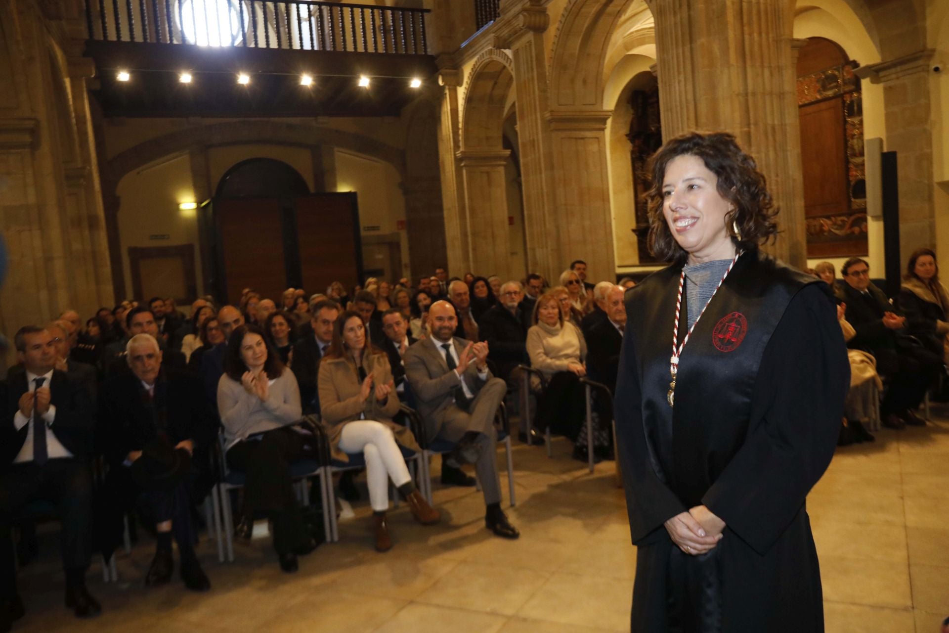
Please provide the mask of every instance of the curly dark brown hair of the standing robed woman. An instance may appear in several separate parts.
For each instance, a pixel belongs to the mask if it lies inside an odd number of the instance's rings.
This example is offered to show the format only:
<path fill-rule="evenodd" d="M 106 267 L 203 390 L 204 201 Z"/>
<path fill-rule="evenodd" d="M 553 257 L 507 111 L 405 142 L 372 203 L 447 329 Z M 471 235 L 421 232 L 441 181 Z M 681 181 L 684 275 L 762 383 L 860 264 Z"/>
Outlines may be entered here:
<path fill-rule="evenodd" d="M 718 195 L 735 205 L 735 210 L 725 216 L 725 225 L 740 251 L 756 251 L 778 233 L 774 219 L 778 210 L 754 158 L 743 152 L 735 137 L 727 132 L 690 132 L 668 140 L 649 158 L 647 170 L 652 186 L 643 197 L 649 206 L 647 244 L 654 257 L 681 264 L 688 256 L 669 230 L 662 209 L 662 181 L 666 167 L 673 158 L 680 156 L 701 158 L 705 167 L 718 179 Z M 737 234 L 733 224 L 737 226 Z"/>

